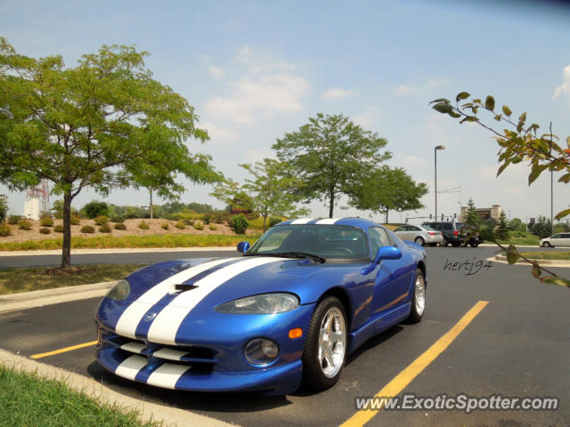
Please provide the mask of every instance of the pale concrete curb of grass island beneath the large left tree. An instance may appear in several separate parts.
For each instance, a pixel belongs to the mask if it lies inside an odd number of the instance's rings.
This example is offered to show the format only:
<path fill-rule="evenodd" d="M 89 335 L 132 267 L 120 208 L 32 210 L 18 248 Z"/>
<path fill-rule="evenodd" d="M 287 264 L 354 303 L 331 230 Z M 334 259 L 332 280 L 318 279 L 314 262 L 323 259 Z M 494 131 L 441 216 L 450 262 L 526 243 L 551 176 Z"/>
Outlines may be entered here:
<path fill-rule="evenodd" d="M 114 280 L 112 282 L 94 283 L 93 285 L 55 287 L 41 291 L 0 295 L 0 313 L 103 296 L 116 283 L 117 281 Z"/>

